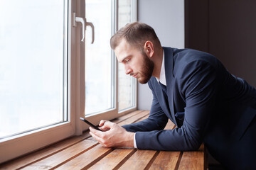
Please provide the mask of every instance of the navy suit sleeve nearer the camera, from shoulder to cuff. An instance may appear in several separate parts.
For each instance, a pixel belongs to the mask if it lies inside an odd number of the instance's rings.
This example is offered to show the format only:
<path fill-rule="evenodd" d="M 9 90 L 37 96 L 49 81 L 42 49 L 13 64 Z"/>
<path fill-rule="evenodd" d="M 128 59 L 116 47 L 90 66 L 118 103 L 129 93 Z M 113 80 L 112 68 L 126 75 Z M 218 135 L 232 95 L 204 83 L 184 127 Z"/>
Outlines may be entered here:
<path fill-rule="evenodd" d="M 139 149 L 188 151 L 203 142 L 214 110 L 216 69 L 208 62 L 193 61 L 179 70 L 178 90 L 186 98 L 183 125 L 174 130 L 137 132 Z"/>

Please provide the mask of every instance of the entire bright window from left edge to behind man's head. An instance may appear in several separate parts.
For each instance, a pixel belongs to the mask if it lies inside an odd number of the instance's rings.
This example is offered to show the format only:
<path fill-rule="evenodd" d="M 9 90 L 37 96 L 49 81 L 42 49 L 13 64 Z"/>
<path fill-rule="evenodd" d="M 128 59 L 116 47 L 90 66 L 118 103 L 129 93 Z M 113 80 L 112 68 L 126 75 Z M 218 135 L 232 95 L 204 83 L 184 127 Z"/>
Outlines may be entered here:
<path fill-rule="evenodd" d="M 80 135 L 87 128 L 81 116 L 97 124 L 136 108 L 136 81 L 117 73 L 110 49 L 122 1 L 0 1 L 0 163 Z M 137 4 L 125 3 L 122 24 L 134 21 Z M 80 41 L 75 17 L 85 14 L 95 25 L 94 44 L 89 27 Z M 132 94 L 119 93 L 122 88 Z M 122 107 L 117 94 L 128 98 Z"/>

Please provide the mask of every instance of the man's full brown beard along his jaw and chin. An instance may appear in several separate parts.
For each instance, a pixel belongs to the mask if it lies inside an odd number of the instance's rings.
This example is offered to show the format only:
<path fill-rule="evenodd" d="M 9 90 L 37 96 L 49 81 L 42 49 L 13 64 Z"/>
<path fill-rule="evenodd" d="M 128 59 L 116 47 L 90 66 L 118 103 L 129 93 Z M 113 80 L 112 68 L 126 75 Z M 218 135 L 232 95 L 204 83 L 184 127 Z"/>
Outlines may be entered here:
<path fill-rule="evenodd" d="M 142 52 L 142 55 L 144 64 L 142 66 L 142 71 L 140 72 L 141 77 L 138 78 L 138 81 L 140 84 L 146 84 L 153 74 L 154 62 L 146 56 L 146 53 L 144 51 Z"/>

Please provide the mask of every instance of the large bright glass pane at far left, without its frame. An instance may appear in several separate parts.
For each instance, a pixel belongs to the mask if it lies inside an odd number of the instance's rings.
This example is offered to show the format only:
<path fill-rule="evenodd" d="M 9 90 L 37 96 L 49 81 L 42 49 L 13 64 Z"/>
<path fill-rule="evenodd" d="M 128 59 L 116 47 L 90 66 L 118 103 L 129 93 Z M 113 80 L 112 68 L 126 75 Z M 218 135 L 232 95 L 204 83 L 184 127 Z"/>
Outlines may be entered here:
<path fill-rule="evenodd" d="M 66 7 L 0 1 L 0 138 L 65 120 Z"/>

